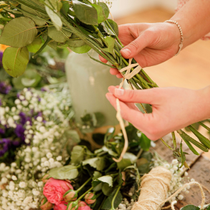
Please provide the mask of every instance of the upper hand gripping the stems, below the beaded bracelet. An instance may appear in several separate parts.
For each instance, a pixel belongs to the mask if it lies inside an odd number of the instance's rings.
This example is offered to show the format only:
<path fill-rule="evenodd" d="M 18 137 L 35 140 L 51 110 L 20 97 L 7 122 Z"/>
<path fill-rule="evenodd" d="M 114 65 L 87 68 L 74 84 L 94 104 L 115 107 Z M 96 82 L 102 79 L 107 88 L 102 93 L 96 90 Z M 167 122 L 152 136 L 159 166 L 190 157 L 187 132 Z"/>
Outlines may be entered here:
<path fill-rule="evenodd" d="M 125 46 L 122 56 L 134 58 L 144 68 L 173 57 L 178 51 L 180 33 L 177 26 L 170 23 L 126 24 L 119 26 L 119 39 Z M 110 69 L 110 73 L 122 77 L 117 69 Z"/>

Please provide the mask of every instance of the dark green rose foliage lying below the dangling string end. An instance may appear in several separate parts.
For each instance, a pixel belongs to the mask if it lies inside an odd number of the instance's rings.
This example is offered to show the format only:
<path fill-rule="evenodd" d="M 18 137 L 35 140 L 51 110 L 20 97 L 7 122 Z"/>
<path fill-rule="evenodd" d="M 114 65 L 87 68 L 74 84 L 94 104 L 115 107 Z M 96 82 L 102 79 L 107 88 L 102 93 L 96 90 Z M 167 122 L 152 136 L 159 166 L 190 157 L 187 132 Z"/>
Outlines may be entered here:
<path fill-rule="evenodd" d="M 145 142 L 144 136 L 132 125 L 127 126 L 126 130 L 130 134 L 129 148 L 121 162 L 116 163 L 113 158 L 120 156 L 124 140 L 121 133 L 114 134 L 113 128 L 104 135 L 104 145 L 100 149 L 91 151 L 86 146 L 76 145 L 71 152 L 69 164 L 52 169 L 48 174 L 55 179 L 69 179 L 78 192 L 77 201 L 92 189 L 97 198 L 90 205 L 92 209 L 115 209 L 123 198 L 136 199 L 140 177 L 152 167 L 152 154 L 146 152 L 150 140 Z M 144 148 L 140 144 L 143 139 Z M 137 163 L 142 158 L 148 164 L 146 170 L 144 164 Z"/>

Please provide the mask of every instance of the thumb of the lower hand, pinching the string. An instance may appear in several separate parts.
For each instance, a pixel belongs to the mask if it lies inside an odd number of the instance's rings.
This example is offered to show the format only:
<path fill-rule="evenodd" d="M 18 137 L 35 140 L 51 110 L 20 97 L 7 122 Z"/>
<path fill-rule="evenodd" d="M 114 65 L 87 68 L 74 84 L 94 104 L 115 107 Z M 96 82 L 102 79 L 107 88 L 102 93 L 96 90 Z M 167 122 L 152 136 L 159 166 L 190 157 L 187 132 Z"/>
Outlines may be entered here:
<path fill-rule="evenodd" d="M 114 88 L 113 94 L 121 101 L 127 103 L 154 104 L 159 95 L 157 91 L 158 88 L 152 88 L 149 90 L 124 90 L 124 89 Z"/>

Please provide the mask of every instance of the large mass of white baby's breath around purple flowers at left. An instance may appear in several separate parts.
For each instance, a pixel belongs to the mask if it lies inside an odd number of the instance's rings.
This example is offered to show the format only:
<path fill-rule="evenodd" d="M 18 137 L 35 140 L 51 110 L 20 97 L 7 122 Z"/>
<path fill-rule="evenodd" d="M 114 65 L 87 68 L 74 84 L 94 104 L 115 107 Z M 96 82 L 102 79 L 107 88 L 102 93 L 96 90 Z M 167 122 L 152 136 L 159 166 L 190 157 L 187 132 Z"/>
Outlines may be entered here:
<path fill-rule="evenodd" d="M 67 156 L 63 133 L 69 129 L 64 111 L 70 107 L 67 92 L 41 92 L 24 89 L 15 106 L 0 107 L 0 121 L 15 127 L 18 113 L 42 113 L 26 122 L 25 142 L 10 166 L 0 164 L 0 210 L 39 208 L 42 199 L 41 178 L 49 169 L 60 167 Z"/>

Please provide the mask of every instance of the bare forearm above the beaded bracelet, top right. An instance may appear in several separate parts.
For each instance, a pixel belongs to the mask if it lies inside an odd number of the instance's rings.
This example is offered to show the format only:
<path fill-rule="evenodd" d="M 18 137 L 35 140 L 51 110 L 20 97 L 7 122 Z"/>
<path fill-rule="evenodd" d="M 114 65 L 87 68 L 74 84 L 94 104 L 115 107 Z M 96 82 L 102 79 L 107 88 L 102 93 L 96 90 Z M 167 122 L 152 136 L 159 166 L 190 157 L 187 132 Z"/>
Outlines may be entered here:
<path fill-rule="evenodd" d="M 171 19 L 182 27 L 186 47 L 210 32 L 210 1 L 190 0 Z"/>

